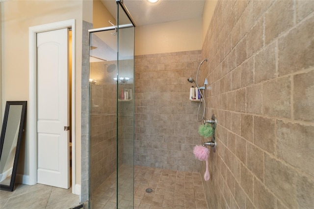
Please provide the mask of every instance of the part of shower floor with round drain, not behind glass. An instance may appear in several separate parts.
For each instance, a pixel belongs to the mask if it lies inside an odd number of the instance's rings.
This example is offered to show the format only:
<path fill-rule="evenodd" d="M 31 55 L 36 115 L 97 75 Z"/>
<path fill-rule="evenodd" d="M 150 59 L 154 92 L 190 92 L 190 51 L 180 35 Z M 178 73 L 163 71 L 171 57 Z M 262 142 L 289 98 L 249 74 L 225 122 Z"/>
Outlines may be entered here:
<path fill-rule="evenodd" d="M 208 208 L 200 173 L 135 166 L 134 175 L 134 209 Z"/>

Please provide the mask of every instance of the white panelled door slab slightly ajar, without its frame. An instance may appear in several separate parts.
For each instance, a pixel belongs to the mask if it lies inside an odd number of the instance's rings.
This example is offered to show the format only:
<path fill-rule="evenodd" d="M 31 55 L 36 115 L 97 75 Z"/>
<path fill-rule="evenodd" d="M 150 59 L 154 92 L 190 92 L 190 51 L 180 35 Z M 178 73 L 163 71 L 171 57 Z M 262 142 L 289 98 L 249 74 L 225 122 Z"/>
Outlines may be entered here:
<path fill-rule="evenodd" d="M 69 29 L 37 33 L 37 183 L 70 187 Z"/>

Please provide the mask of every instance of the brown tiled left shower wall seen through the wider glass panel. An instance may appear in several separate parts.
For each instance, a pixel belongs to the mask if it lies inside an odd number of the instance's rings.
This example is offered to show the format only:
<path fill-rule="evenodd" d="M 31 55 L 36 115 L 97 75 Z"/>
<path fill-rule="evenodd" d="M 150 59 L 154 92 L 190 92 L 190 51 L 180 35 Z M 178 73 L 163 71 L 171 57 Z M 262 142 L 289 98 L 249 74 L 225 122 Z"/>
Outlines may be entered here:
<path fill-rule="evenodd" d="M 111 85 L 111 88 L 113 85 Z M 91 107 L 90 114 L 90 169 L 92 191 L 101 185 L 109 177 L 117 166 L 117 125 L 116 113 L 106 112 L 105 99 L 101 96 L 108 86 L 91 86 L 91 95 L 94 97 L 95 105 Z M 99 95 L 96 97 L 96 95 Z M 104 95 L 105 96 L 105 95 Z M 101 102 L 104 101 L 104 102 Z M 114 101 L 108 101 L 112 105 Z"/>

